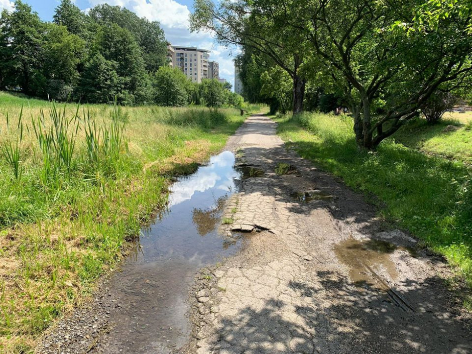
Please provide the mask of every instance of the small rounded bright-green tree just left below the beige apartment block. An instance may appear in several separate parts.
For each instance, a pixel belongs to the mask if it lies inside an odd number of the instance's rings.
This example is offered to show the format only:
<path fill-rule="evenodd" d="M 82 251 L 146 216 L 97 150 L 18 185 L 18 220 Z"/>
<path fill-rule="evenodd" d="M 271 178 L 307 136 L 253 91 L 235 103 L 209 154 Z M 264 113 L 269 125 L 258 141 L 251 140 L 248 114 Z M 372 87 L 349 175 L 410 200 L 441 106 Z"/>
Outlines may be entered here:
<path fill-rule="evenodd" d="M 190 81 L 180 69 L 163 66 L 154 75 L 154 101 L 165 106 L 182 106 L 188 102 Z"/>

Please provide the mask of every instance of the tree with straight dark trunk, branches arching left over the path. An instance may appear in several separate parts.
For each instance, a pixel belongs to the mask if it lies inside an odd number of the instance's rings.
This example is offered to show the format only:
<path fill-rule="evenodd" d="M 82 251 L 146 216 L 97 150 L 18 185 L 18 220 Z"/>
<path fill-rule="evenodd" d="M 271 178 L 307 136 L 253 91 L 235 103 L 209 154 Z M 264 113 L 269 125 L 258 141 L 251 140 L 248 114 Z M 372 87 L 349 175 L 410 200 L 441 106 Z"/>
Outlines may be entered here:
<path fill-rule="evenodd" d="M 293 113 L 303 111 L 306 79 L 300 74 L 304 41 L 298 29 L 280 26 L 270 13 L 254 6 L 254 1 L 195 0 L 190 16 L 191 30 L 216 33 L 224 44 L 252 47 L 285 70 L 293 81 Z"/>

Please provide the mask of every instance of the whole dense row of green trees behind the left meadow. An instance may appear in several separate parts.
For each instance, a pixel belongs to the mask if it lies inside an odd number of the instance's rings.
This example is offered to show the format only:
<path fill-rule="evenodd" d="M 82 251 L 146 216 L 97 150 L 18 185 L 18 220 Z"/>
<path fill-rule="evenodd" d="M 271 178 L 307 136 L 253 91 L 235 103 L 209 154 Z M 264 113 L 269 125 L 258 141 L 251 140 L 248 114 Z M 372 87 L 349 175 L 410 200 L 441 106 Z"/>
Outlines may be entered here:
<path fill-rule="evenodd" d="M 218 87 L 217 97 L 207 97 L 206 104 L 237 98 L 217 80 L 201 86 L 169 68 L 158 22 L 119 6 L 98 5 L 85 14 L 71 0 L 62 0 L 52 23 L 41 21 L 21 0 L 14 11 L 2 12 L 2 90 L 59 101 L 102 103 L 116 97 L 122 104 L 182 105 L 200 103 Z"/>

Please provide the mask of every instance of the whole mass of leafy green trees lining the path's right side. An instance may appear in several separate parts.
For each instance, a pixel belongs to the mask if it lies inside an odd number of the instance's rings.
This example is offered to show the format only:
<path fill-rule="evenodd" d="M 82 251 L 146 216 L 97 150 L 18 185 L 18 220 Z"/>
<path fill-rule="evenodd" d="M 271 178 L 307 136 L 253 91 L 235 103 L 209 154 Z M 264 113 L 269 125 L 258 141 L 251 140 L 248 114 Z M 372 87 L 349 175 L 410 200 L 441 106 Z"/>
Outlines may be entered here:
<path fill-rule="evenodd" d="M 191 29 L 238 45 L 244 96 L 272 111 L 346 107 L 372 150 L 420 111 L 472 95 L 472 11 L 457 0 L 194 0 Z"/>

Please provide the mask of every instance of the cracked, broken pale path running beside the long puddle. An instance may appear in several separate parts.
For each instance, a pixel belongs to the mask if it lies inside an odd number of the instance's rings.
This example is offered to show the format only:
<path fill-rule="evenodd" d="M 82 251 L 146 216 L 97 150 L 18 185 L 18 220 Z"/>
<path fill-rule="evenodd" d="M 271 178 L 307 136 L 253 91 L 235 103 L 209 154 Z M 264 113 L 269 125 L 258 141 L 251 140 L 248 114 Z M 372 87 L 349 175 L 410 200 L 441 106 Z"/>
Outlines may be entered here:
<path fill-rule="evenodd" d="M 443 261 L 275 133 L 253 116 L 228 142 L 252 177 L 229 203 L 226 232 L 260 232 L 199 281 L 188 351 L 472 353 Z"/>

